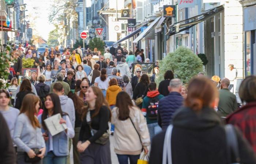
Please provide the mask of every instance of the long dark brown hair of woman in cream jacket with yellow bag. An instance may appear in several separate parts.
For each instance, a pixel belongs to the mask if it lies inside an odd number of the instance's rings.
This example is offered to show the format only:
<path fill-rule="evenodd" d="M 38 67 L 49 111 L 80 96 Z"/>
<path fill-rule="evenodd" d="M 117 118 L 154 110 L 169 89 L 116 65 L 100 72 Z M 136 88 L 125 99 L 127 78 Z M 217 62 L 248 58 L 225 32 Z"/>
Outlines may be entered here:
<path fill-rule="evenodd" d="M 129 118 L 130 109 L 133 106 L 131 97 L 128 93 L 121 91 L 116 96 L 116 107 L 118 108 L 118 119 L 127 120 Z"/>

